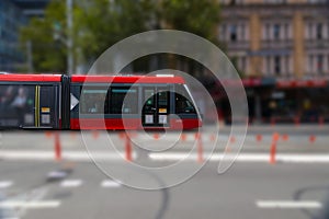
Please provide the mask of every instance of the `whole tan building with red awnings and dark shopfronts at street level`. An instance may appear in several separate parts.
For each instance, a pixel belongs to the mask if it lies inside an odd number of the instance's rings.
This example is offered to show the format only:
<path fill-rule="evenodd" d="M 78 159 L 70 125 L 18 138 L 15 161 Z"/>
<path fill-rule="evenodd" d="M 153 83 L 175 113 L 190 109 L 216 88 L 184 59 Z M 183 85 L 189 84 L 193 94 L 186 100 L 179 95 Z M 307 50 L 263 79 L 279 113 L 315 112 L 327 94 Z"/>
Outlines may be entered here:
<path fill-rule="evenodd" d="M 245 77 L 251 119 L 329 120 L 329 1 L 222 3 L 218 37 Z"/>

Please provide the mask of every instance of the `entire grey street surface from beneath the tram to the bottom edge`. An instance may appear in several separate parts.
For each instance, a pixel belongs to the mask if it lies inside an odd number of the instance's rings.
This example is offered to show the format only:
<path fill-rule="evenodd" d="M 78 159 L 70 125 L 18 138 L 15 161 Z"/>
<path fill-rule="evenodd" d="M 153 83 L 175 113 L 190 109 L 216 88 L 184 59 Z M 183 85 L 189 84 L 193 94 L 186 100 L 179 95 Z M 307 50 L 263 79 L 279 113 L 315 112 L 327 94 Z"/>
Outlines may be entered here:
<path fill-rule="evenodd" d="M 179 185 L 156 191 L 128 187 L 101 172 L 83 153 L 86 147 L 79 132 L 60 135 L 63 161 L 54 160 L 54 134 L 2 132 L 0 218 L 329 218 L 326 212 L 329 209 L 329 159 L 314 158 L 314 161 L 307 162 L 303 159 L 294 162 L 283 160 L 271 164 L 266 155 L 274 130 L 270 127 L 260 130 L 254 128 L 251 130 L 253 132 L 249 132 L 240 160 L 224 174 L 217 173 L 218 160 L 211 160 L 204 166 L 196 159 L 183 160 L 175 174 L 185 174 L 195 166 L 201 170 Z M 329 154 L 328 127 L 318 131 L 314 127 L 277 130 L 288 135 L 288 139 L 277 142 L 277 157 L 292 153 L 300 158 Z M 159 136 L 154 135 L 150 134 L 154 139 L 136 139 L 149 147 L 163 149 L 175 137 L 172 134 L 168 142 L 161 142 L 156 140 Z M 215 154 L 225 152 L 226 143 L 222 143 L 225 140 L 220 139 L 220 135 Z M 262 139 L 257 140 L 257 135 L 262 135 Z M 314 142 L 309 141 L 311 135 L 316 136 Z M 102 132 L 89 132 L 84 141 L 92 142 L 94 150 L 103 154 L 106 161 L 110 160 L 110 165 L 115 166 L 125 178 L 134 180 L 136 173 L 134 169 L 127 171 L 124 158 L 105 155 L 115 152 L 104 143 L 106 138 Z M 211 131 L 203 135 L 204 155 L 211 152 L 213 138 Z M 236 138 L 238 141 L 239 137 Z M 118 132 L 111 132 L 111 139 L 125 154 L 125 139 Z M 179 147 L 171 150 L 173 154 L 185 153 L 191 151 L 190 143 L 194 142 L 194 134 L 188 132 L 184 139 L 179 139 Z M 235 143 L 229 142 L 231 149 L 228 152 L 235 152 Z M 150 153 L 134 145 L 133 153 L 133 162 L 146 166 L 162 166 L 172 162 L 164 157 L 162 160 L 151 159 Z M 265 159 L 241 159 L 246 154 L 263 154 Z M 154 180 L 159 186 L 170 180 L 148 171 L 139 172 L 138 177 L 141 183 Z"/>

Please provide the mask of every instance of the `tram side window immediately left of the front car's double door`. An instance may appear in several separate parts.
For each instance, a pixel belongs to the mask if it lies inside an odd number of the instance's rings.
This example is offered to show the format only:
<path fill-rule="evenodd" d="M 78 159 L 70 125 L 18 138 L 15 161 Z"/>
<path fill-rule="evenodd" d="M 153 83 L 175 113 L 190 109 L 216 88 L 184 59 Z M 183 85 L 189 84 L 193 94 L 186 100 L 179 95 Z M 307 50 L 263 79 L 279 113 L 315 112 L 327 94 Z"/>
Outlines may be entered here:
<path fill-rule="evenodd" d="M 112 114 L 137 114 L 138 92 L 136 88 L 112 88 L 111 89 Z"/>

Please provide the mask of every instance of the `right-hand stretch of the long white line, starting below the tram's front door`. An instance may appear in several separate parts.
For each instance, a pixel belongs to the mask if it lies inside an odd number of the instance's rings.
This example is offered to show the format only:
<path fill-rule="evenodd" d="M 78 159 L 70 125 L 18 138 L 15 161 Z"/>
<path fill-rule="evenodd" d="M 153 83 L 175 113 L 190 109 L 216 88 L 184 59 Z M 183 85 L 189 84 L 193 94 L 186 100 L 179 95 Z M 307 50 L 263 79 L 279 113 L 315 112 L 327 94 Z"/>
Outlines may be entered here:
<path fill-rule="evenodd" d="M 151 160 L 158 161 L 195 161 L 196 153 L 186 152 L 167 152 L 167 153 L 149 153 Z M 269 162 L 269 153 L 240 153 L 238 155 L 230 153 L 203 153 L 205 160 L 209 161 L 230 161 L 236 159 L 237 162 Z M 285 163 L 329 163 L 329 154 L 300 154 L 300 153 L 277 153 L 275 155 L 277 162 Z"/>

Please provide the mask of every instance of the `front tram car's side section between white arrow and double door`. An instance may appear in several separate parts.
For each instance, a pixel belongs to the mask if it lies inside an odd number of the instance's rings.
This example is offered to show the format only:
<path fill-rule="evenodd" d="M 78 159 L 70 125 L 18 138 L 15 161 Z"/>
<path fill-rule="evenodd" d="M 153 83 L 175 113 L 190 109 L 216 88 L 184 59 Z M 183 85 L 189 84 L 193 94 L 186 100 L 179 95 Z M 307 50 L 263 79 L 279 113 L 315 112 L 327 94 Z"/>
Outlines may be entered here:
<path fill-rule="evenodd" d="M 71 83 L 71 129 L 138 129 L 138 88 L 131 84 Z M 127 95 L 127 101 L 124 100 Z M 125 119 L 125 123 L 123 122 Z"/>

